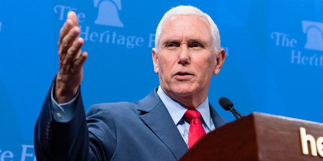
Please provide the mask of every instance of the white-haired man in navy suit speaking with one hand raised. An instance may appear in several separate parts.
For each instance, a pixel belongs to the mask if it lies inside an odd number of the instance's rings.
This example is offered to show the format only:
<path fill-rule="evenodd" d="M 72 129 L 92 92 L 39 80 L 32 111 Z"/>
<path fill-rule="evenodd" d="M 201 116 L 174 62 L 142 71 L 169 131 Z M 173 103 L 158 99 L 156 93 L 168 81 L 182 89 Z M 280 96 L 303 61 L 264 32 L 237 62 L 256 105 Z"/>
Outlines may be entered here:
<path fill-rule="evenodd" d="M 70 12 L 60 31 L 59 71 L 35 126 L 37 159 L 178 160 L 201 137 L 194 138 L 187 111 L 201 115 L 194 118 L 200 133 L 227 122 L 207 99 L 226 55 L 216 24 L 200 10 L 179 6 L 159 22 L 152 49 L 158 88 L 138 102 L 93 105 L 86 116 L 79 87 L 87 52 L 79 33 Z"/>

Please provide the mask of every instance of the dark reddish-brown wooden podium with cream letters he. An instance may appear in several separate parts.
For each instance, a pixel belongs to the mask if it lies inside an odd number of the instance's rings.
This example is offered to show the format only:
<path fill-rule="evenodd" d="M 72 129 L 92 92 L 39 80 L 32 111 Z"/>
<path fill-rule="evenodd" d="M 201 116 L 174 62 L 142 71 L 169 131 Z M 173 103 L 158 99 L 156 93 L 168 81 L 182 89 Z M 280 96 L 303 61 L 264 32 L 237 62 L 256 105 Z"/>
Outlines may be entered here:
<path fill-rule="evenodd" d="M 322 123 L 252 113 L 208 133 L 180 161 L 323 160 L 322 142 Z"/>

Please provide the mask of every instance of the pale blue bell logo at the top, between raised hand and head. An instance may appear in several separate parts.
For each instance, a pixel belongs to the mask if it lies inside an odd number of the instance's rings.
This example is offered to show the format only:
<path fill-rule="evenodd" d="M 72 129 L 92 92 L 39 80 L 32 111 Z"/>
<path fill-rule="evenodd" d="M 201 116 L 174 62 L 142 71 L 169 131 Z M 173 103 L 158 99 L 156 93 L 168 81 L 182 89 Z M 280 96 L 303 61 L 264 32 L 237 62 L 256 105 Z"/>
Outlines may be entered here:
<path fill-rule="evenodd" d="M 98 8 L 97 18 L 94 24 L 123 27 L 118 11 L 121 10 L 121 0 L 93 0 L 94 7 Z"/>

